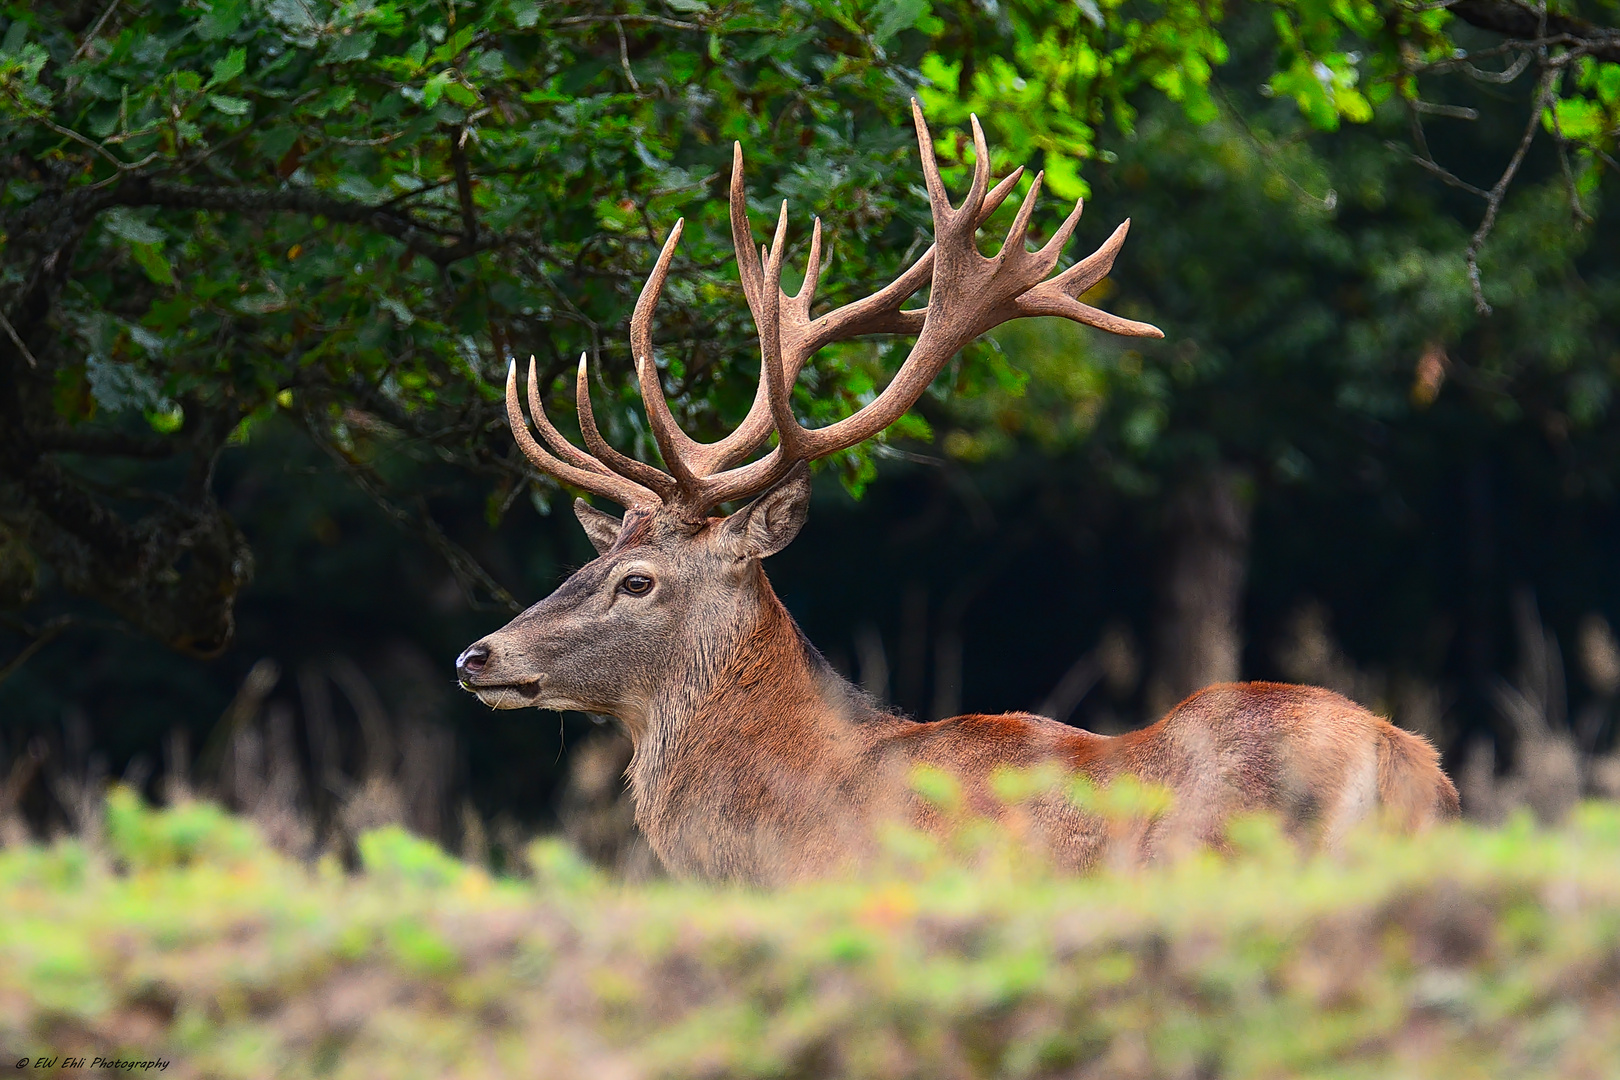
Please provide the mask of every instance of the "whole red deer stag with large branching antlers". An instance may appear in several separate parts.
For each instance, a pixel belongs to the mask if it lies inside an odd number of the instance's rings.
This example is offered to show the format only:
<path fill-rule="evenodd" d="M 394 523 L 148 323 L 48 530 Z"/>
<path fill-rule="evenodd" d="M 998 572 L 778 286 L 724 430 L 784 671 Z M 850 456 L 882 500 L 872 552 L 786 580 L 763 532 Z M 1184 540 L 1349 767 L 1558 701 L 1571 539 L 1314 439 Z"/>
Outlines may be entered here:
<path fill-rule="evenodd" d="M 880 821 L 938 824 L 909 785 L 919 764 L 959 777 L 969 805 L 987 813 L 998 813 L 988 793 L 998 766 L 1056 761 L 1098 782 L 1134 774 L 1165 785 L 1174 805 L 1140 839 L 1144 858 L 1171 836 L 1220 842 L 1226 816 L 1246 810 L 1277 811 L 1302 836 L 1327 842 L 1377 808 L 1406 826 L 1453 813 L 1456 792 L 1427 742 L 1327 690 L 1210 687 L 1152 727 L 1118 737 L 1027 712 L 923 724 L 876 708 L 804 638 L 760 560 L 804 525 L 808 461 L 881 432 L 951 356 L 1011 319 L 1061 316 L 1113 334 L 1163 337 L 1077 300 L 1108 274 L 1129 222 L 1094 254 L 1048 277 L 1081 204 L 1038 251 L 1029 251 L 1037 175 L 1001 251 L 985 257 L 975 230 L 1022 168 L 991 186 L 990 155 L 974 120 L 972 186 L 962 206 L 951 206 L 915 102 L 912 112 L 935 246 L 886 288 L 820 316 L 810 313 L 821 269 L 820 220 L 804 287 L 789 296 L 781 291 L 787 204 L 770 248 L 755 256 L 742 147 L 735 147 L 732 238 L 763 374 L 747 418 L 724 439 L 700 444 L 676 426 L 653 361 L 653 309 L 680 222 L 630 322 L 642 397 L 667 473 L 601 437 L 583 358 L 578 415 L 588 452 L 546 419 L 531 359 L 528 405 L 546 442 L 539 445 L 523 419 L 512 364 L 507 416 L 523 453 L 562 483 L 624 505 L 625 515 L 575 500 L 599 557 L 470 646 L 457 661 L 462 687 L 497 709 L 619 717 L 635 746 L 629 779 L 637 821 L 672 871 L 705 878 L 771 882 L 823 874 L 859 863 Z M 901 306 L 925 285 L 927 306 Z M 823 345 L 870 334 L 915 335 L 915 345 L 870 405 L 826 427 L 800 426 L 789 395 L 804 364 Z M 776 445 L 750 461 L 773 432 Z M 757 494 L 731 517 L 714 515 L 721 504 Z M 1066 865 L 1090 865 L 1103 848 L 1105 824 L 1063 798 L 1038 800 L 1029 821 Z"/>

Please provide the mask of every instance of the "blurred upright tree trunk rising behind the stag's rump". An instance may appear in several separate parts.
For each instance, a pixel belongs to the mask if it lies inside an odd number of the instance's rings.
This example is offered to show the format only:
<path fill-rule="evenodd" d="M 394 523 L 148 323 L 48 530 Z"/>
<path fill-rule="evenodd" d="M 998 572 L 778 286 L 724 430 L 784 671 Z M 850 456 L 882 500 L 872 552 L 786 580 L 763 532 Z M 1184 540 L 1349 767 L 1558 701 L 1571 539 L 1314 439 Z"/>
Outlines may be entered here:
<path fill-rule="evenodd" d="M 1239 677 L 1251 489 L 1244 473 L 1220 468 L 1192 478 L 1170 500 L 1149 719 L 1194 690 Z"/>

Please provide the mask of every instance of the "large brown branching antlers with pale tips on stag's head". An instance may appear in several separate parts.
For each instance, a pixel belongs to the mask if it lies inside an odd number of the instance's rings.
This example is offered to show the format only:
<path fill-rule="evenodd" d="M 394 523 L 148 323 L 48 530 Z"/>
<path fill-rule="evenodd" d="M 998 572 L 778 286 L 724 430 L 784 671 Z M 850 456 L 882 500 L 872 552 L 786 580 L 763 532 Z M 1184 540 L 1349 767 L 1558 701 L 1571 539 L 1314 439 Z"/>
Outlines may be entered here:
<path fill-rule="evenodd" d="M 1121 319 L 1079 301 L 1081 293 L 1106 277 L 1113 267 L 1115 256 L 1124 244 L 1126 230 L 1131 228 L 1129 219 L 1102 248 L 1048 279 L 1081 219 L 1082 204 L 1074 204 L 1074 210 L 1051 240 L 1038 251 L 1029 251 L 1025 248 L 1029 220 L 1043 178 L 1043 173 L 1035 173 L 1035 181 L 1019 207 L 1013 228 L 1008 230 L 1001 251 L 995 257 L 985 257 L 978 253 L 974 235 L 1006 201 L 1024 168 L 1019 167 L 995 188 L 990 186 L 990 151 L 985 147 L 978 118 L 974 117 L 974 181 L 962 206 L 953 207 L 940 180 L 928 125 L 915 100 L 912 100 L 912 117 L 917 121 L 917 146 L 922 151 L 922 170 L 933 210 L 935 243 L 885 288 L 818 317 L 810 316 L 810 303 L 821 274 L 821 220 L 815 220 L 810 236 L 805 282 L 797 296 L 789 296 L 781 288 L 787 204 L 782 202 L 771 244 L 757 257 L 742 183 L 742 144 L 735 144 L 731 168 L 731 232 L 742 291 L 760 334 L 761 355 L 760 387 L 748 415 L 735 431 L 706 444 L 680 431 L 664 400 L 663 381 L 653 363 L 653 309 L 658 306 L 658 295 L 669 275 L 669 264 L 684 227 L 684 222 L 676 222 L 630 319 L 630 348 L 635 353 L 646 419 L 669 473 L 619 453 L 603 439 L 591 413 L 583 356 L 578 371 L 578 411 L 580 432 L 590 453 L 569 442 L 546 418 L 535 382 L 535 361 L 530 358 L 528 406 L 535 416 L 535 427 L 551 450 L 535 442 L 528 434 L 523 408 L 518 405 L 517 363 L 507 371 L 507 418 L 525 457 L 541 471 L 627 508 L 663 505 L 701 518 L 723 502 L 765 491 L 786 476 L 797 461 L 823 458 L 878 434 L 922 397 L 951 356 L 1003 322 L 1030 316 L 1061 316 L 1110 334 L 1163 337 L 1158 327 Z M 930 287 L 927 306 L 901 308 L 923 285 Z M 915 334 L 917 342 L 899 372 L 872 403 L 826 427 L 804 427 L 794 416 L 789 398 L 805 361 L 825 345 L 865 334 Z M 771 452 L 742 465 L 773 431 L 776 445 Z"/>

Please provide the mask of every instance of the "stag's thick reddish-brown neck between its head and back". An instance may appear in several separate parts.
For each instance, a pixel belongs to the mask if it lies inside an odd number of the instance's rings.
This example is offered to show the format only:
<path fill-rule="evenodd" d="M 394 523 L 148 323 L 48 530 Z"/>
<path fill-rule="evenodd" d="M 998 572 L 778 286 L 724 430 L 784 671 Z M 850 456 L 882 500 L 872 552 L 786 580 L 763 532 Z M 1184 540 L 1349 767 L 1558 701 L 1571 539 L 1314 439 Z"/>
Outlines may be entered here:
<path fill-rule="evenodd" d="M 846 785 L 876 709 L 805 640 L 757 573 L 750 617 L 706 628 L 700 664 L 648 711 L 630 764 L 637 821 L 672 868 L 760 878 Z M 706 661 L 706 662 L 705 662 Z"/>

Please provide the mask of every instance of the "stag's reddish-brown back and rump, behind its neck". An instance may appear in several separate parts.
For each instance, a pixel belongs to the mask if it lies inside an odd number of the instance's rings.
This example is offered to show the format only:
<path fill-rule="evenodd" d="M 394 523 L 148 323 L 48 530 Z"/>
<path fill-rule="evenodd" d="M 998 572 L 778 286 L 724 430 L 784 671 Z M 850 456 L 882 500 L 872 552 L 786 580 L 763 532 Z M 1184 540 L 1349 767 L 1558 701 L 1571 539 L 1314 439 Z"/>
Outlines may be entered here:
<path fill-rule="evenodd" d="M 1225 821 L 1246 811 L 1278 813 L 1293 832 L 1325 844 L 1380 808 L 1408 827 L 1456 813 L 1456 790 L 1427 740 L 1319 687 L 1207 687 L 1157 724 L 1111 737 L 1027 712 L 896 721 L 873 753 L 956 774 L 969 805 L 991 814 L 1001 810 L 990 792 L 998 766 L 1056 761 L 1097 782 L 1132 774 L 1160 784 L 1174 806 L 1140 837 L 1144 857 L 1178 839 L 1218 844 Z M 1034 813 L 1064 861 L 1095 860 L 1100 823 L 1061 798 Z M 912 816 L 925 826 L 938 818 L 925 806 Z"/>

